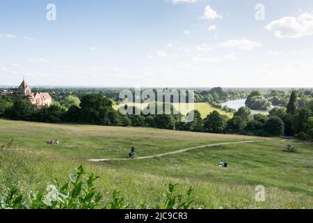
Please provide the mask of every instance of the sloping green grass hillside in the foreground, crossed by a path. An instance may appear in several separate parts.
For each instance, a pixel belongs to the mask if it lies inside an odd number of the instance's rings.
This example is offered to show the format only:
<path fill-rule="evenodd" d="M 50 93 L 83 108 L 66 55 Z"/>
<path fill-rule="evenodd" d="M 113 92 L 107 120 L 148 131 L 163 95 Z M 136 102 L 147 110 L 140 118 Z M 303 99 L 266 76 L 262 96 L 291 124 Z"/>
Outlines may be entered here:
<path fill-rule="evenodd" d="M 147 208 L 163 199 L 170 180 L 178 190 L 194 187 L 195 204 L 204 208 L 313 208 L 313 144 L 239 135 L 178 132 L 149 128 L 54 125 L 0 120 L 0 145 L 14 138 L 12 149 L 0 152 L 0 187 L 18 185 L 23 192 L 45 190 L 54 178 L 65 180 L 75 167 L 100 176 L 97 189 L 104 201 L 121 190 L 131 208 Z M 58 139 L 59 146 L 47 145 Z M 264 140 L 251 144 L 195 149 L 147 160 L 89 162 L 90 158 L 156 155 L 182 148 Z M 297 153 L 287 153 L 291 144 Z M 217 167 L 223 159 L 230 168 Z M 255 201 L 255 186 L 264 185 L 266 201 Z"/>

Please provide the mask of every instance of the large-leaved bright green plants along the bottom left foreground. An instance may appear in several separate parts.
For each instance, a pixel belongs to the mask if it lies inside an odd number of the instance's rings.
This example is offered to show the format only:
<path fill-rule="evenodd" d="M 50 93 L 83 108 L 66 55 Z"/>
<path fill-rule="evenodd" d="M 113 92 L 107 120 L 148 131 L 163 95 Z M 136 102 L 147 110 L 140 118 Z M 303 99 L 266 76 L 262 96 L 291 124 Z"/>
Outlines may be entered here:
<path fill-rule="evenodd" d="M 83 166 L 69 175 L 67 183 L 61 185 L 56 179 L 53 185 L 48 185 L 45 194 L 31 191 L 29 199 L 25 200 L 17 187 L 8 187 L 0 192 L 0 209 L 125 209 L 129 204 L 125 203 L 120 191 L 113 191 L 111 203 L 101 203 L 101 193 L 95 189 L 95 180 L 99 178 L 90 174 L 87 178 Z M 193 197 L 192 188 L 188 188 L 186 194 L 176 194 L 176 185 L 170 182 L 168 191 L 164 195 L 165 201 L 157 204 L 161 209 L 186 209 L 191 208 Z M 145 204 L 141 206 L 144 208 Z"/>

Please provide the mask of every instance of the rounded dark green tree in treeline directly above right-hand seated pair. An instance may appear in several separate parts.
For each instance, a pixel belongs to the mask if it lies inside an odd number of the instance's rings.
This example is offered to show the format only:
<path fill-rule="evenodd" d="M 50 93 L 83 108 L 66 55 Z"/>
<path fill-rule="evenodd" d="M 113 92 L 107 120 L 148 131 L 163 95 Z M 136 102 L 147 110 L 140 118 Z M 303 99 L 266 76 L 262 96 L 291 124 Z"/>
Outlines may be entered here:
<path fill-rule="evenodd" d="M 227 118 L 219 114 L 217 111 L 211 112 L 207 115 L 207 118 L 204 119 L 204 128 L 207 132 L 223 133 L 225 132 L 226 124 Z"/>

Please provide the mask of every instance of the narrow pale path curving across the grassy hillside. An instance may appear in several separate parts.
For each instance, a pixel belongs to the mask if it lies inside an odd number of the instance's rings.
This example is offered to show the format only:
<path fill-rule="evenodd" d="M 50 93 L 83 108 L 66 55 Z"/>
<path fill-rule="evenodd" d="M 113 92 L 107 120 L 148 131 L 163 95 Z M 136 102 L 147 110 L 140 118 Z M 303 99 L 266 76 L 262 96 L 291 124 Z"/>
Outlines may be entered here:
<path fill-rule="evenodd" d="M 186 151 L 191 151 L 197 148 L 206 148 L 206 147 L 213 147 L 213 146 L 223 146 L 223 145 L 229 145 L 229 144 L 249 144 L 253 142 L 262 142 L 264 140 L 252 140 L 252 141 L 235 141 L 235 142 L 225 142 L 225 143 L 219 143 L 219 144 L 209 144 L 204 146 L 194 146 L 191 148 L 184 148 L 179 151 L 172 151 L 168 153 L 162 153 L 157 155 L 148 155 L 148 156 L 141 156 L 141 157 L 134 157 L 133 159 L 130 158 L 110 158 L 110 159 L 90 159 L 90 162 L 104 162 L 104 161 L 113 161 L 113 160 L 144 160 L 144 159 L 153 159 L 155 157 L 162 157 L 166 155 L 173 155 L 177 153 L 184 153 Z"/>

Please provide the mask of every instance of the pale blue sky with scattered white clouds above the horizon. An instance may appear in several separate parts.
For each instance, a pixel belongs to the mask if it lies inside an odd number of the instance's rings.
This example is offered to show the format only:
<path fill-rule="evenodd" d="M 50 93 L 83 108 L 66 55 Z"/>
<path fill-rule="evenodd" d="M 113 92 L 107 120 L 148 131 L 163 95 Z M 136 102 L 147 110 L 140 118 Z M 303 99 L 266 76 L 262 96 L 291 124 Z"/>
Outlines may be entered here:
<path fill-rule="evenodd" d="M 312 0 L 1 0 L 0 86 L 312 87 L 312 40 Z"/>

